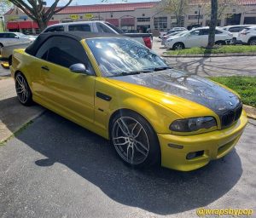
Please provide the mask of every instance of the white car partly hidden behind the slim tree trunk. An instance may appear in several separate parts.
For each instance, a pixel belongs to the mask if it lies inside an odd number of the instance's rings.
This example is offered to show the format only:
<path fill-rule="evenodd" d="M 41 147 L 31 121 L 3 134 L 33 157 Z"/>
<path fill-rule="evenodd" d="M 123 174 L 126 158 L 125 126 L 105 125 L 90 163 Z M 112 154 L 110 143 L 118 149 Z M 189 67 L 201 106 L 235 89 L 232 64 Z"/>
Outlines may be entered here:
<path fill-rule="evenodd" d="M 192 47 L 206 47 L 208 43 L 209 27 L 201 27 L 185 32 L 180 36 L 169 37 L 166 40 L 168 49 L 185 49 Z M 220 28 L 215 31 L 215 43 L 224 45 L 232 40 L 232 33 Z"/>

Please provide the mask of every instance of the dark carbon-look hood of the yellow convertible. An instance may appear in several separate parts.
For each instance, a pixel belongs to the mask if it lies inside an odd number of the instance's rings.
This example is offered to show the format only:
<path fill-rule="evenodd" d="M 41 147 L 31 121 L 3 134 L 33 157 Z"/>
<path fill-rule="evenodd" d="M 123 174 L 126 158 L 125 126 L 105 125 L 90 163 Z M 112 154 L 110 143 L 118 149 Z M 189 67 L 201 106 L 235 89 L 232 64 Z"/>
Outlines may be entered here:
<path fill-rule="evenodd" d="M 201 106 L 206 106 L 218 116 L 236 109 L 241 106 L 241 100 L 228 89 L 224 89 L 218 83 L 191 75 L 175 69 L 168 69 L 161 72 L 148 72 L 131 76 L 111 77 L 110 82 L 116 83 L 125 89 L 131 89 L 129 84 L 155 89 L 162 94 L 175 95 L 185 100 L 193 101 Z M 125 83 L 117 83 L 117 82 Z M 145 92 L 132 89 L 133 92 L 139 92 L 139 95 L 147 95 Z"/>

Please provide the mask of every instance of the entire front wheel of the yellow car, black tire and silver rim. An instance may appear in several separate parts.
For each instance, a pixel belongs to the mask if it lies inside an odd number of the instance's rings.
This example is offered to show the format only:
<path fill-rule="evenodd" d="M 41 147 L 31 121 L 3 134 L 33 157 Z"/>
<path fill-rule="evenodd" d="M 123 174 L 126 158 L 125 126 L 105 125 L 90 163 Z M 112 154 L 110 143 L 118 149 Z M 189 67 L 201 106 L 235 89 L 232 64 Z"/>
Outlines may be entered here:
<path fill-rule="evenodd" d="M 111 120 L 109 135 L 111 144 L 125 164 L 136 168 L 160 164 L 157 135 L 150 123 L 136 112 L 118 112 Z"/>

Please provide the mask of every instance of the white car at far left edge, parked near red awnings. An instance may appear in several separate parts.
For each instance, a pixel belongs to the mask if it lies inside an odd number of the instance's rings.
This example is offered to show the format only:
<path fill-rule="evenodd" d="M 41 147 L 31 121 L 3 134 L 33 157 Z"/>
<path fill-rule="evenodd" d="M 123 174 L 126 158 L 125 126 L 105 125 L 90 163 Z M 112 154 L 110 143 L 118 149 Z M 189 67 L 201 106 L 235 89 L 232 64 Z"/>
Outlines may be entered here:
<path fill-rule="evenodd" d="M 0 48 L 17 43 L 30 43 L 34 37 L 26 36 L 20 32 L 0 32 Z"/>

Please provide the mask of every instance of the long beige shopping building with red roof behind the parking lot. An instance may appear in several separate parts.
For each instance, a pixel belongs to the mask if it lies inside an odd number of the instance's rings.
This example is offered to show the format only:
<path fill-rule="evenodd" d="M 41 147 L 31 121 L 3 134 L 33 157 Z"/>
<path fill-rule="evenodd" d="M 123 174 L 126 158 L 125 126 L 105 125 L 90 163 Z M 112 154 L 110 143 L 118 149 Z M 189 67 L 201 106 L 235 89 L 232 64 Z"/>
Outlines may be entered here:
<path fill-rule="evenodd" d="M 256 0 L 240 0 L 218 20 L 218 26 L 256 24 Z M 182 17 L 181 26 L 207 26 L 210 16 L 201 4 L 192 3 Z M 22 10 L 14 8 L 4 14 L 6 30 L 38 34 L 38 24 Z M 49 25 L 73 21 L 106 20 L 114 26 L 131 32 L 160 32 L 177 26 L 176 17 L 160 7 L 160 2 L 108 3 L 69 6 L 54 14 Z"/>

